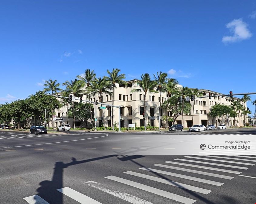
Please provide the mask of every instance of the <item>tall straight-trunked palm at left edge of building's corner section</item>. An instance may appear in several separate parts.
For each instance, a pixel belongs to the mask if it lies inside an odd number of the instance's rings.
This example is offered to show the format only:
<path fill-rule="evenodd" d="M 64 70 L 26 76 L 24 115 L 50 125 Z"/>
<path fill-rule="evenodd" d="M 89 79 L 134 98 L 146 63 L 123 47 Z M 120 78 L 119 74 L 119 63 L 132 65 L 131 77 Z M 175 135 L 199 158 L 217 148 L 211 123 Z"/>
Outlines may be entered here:
<path fill-rule="evenodd" d="M 113 90 L 113 97 L 112 97 L 112 105 L 114 105 L 114 97 L 115 97 L 115 88 L 116 88 L 116 83 L 118 84 L 123 84 L 125 83 L 123 79 L 125 79 L 125 74 L 119 74 L 120 69 L 116 68 L 113 69 L 112 72 L 107 70 L 108 76 L 105 76 L 104 79 L 108 83 L 108 88 L 110 90 Z M 113 113 L 113 106 L 112 106 L 112 129 L 114 129 L 114 113 Z"/>

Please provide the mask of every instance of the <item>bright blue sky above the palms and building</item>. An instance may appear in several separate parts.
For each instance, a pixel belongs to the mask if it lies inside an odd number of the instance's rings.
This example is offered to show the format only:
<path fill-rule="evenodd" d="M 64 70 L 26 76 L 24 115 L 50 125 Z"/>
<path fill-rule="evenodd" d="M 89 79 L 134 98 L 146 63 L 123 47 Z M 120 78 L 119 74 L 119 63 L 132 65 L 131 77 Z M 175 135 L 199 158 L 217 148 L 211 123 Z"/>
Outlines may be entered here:
<path fill-rule="evenodd" d="M 97 76 L 120 68 L 127 80 L 162 71 L 183 86 L 255 92 L 255 1 L 6 0 L 0 19 L 0 103 L 86 68 Z"/>

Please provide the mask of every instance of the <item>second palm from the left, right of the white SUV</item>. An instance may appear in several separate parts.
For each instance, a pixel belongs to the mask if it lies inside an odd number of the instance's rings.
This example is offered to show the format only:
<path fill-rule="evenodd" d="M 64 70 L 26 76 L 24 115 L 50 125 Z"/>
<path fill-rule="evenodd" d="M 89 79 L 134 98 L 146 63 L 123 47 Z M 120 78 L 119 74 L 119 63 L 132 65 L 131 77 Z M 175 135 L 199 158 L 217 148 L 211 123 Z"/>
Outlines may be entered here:
<path fill-rule="evenodd" d="M 62 83 L 63 86 L 66 86 L 66 89 L 62 91 L 63 94 L 69 95 L 71 93 L 74 94 L 74 97 L 76 96 L 77 93 L 80 92 L 80 83 L 77 79 L 72 79 L 70 82 L 66 81 Z M 75 126 L 75 102 L 73 102 L 73 127 L 76 128 Z"/>

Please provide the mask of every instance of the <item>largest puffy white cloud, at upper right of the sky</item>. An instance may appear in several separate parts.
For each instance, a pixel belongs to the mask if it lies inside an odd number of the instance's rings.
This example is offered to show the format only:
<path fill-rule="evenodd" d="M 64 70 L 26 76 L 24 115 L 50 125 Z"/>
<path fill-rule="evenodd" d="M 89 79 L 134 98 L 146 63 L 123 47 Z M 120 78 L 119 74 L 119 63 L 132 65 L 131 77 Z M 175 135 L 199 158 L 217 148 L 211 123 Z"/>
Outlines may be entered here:
<path fill-rule="evenodd" d="M 248 25 L 243 21 L 242 18 L 234 19 L 229 22 L 226 27 L 230 30 L 232 36 L 223 36 L 222 42 L 224 43 L 234 43 L 239 40 L 245 40 L 252 36 L 251 32 L 248 30 Z"/>

